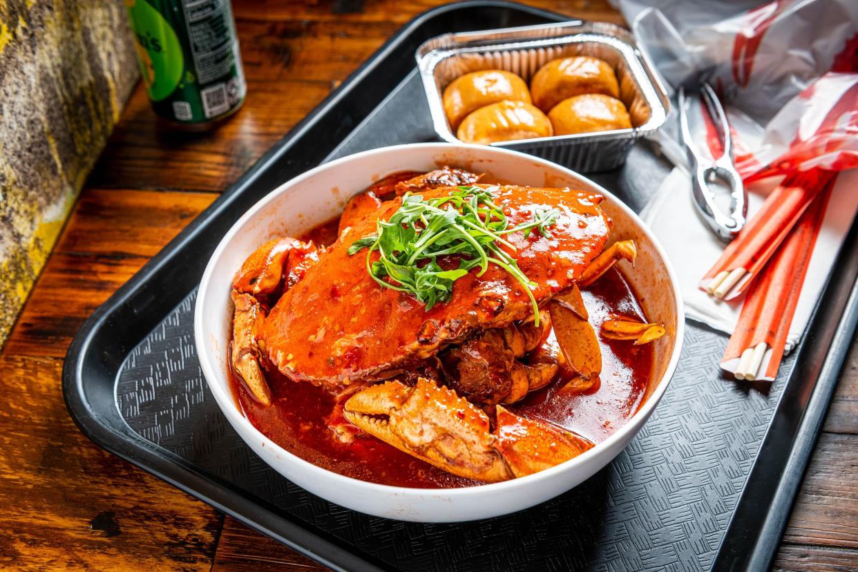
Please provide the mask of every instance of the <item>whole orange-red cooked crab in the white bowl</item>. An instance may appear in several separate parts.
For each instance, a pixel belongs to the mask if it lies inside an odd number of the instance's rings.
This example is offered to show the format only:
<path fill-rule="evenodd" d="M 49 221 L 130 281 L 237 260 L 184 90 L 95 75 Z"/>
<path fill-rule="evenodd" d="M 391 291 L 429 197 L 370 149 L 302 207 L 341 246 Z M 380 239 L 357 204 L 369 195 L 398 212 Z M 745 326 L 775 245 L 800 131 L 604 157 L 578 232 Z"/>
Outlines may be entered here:
<path fill-rule="evenodd" d="M 601 352 L 579 286 L 618 260 L 634 262 L 634 244 L 605 248 L 611 224 L 594 193 L 480 184 L 511 225 L 540 208 L 559 211 L 550 232 L 506 236 L 539 311 L 526 286 L 494 265 L 456 280 L 450 299 L 427 310 L 379 286 L 366 256 L 348 253 L 396 212 L 405 191 L 446 196 L 480 179 L 449 167 L 412 175 L 353 197 L 328 248 L 275 238 L 247 258 L 233 281 L 233 374 L 263 405 L 273 399 L 266 370 L 323 386 L 338 396 L 338 416 L 348 424 L 330 424 L 337 438 L 377 437 L 468 479 L 521 477 L 593 447 L 508 407 L 559 369 L 578 388 L 595 383 Z M 551 328 L 559 351 L 548 342 Z"/>

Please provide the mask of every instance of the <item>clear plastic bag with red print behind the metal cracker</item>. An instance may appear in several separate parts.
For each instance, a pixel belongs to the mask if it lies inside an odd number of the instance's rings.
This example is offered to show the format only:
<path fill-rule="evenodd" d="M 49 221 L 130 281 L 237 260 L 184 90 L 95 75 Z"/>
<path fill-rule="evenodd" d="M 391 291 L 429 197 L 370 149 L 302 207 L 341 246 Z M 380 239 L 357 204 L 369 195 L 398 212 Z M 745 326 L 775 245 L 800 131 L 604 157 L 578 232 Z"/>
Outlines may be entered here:
<path fill-rule="evenodd" d="M 619 0 L 619 8 L 668 88 L 716 88 L 746 181 L 858 166 L 855 0 Z M 712 141 L 705 121 L 692 125 L 698 141 Z M 659 136 L 682 164 L 675 140 L 675 129 Z"/>

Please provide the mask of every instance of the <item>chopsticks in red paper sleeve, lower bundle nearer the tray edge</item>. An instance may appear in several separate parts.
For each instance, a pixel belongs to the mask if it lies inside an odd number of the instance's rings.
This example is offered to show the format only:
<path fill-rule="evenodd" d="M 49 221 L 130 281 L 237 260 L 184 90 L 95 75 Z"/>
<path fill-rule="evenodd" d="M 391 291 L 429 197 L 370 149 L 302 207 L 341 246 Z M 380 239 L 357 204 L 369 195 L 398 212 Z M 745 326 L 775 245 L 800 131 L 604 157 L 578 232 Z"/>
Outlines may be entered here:
<path fill-rule="evenodd" d="M 827 178 L 825 189 L 801 215 L 764 274 L 747 289 L 721 361 L 722 369 L 733 372 L 736 379 L 774 380 L 777 375 L 834 180 Z"/>

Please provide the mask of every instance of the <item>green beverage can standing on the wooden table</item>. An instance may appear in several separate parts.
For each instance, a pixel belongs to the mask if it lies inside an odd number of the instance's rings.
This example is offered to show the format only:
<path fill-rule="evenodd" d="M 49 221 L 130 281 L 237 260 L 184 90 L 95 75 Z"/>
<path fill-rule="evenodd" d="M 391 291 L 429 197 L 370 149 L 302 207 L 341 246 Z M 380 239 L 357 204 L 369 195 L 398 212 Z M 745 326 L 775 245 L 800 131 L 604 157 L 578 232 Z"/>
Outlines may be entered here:
<path fill-rule="evenodd" d="M 125 7 L 155 113 L 205 129 L 239 109 L 246 87 L 230 0 L 125 0 Z"/>

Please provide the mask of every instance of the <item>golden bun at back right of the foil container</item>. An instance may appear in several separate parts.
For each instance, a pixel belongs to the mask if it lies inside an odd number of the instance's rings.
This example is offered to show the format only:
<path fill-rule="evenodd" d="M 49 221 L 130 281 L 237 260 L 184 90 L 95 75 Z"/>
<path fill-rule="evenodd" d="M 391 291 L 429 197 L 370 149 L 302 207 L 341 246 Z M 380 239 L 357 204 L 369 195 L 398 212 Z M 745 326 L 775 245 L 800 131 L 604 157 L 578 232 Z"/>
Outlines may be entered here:
<path fill-rule="evenodd" d="M 613 68 L 596 57 L 562 57 L 543 65 L 530 81 L 533 104 L 545 112 L 564 99 L 583 93 L 619 97 Z"/>

